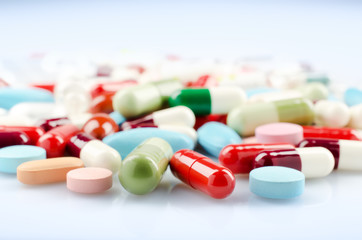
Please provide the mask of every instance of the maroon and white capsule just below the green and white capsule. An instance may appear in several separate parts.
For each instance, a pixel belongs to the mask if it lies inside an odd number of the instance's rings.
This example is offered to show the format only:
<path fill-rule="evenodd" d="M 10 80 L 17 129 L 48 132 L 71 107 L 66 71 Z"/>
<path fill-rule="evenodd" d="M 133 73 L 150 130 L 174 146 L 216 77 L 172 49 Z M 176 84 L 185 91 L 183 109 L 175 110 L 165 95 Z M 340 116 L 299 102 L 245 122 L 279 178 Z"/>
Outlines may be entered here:
<path fill-rule="evenodd" d="M 193 127 L 195 125 L 195 114 L 185 106 L 171 107 L 155 111 L 142 118 L 125 121 L 121 129 L 129 130 L 140 126 L 157 127 L 163 124 L 178 124 Z"/>

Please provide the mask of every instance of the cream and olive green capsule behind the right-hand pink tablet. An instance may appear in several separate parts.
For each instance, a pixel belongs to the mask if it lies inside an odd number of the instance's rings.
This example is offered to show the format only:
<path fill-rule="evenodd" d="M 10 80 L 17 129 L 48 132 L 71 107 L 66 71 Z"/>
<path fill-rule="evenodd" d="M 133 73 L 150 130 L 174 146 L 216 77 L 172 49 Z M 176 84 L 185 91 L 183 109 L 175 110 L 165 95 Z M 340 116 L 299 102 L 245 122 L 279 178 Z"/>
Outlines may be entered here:
<path fill-rule="evenodd" d="M 310 125 L 313 121 L 312 102 L 301 98 L 243 105 L 231 110 L 227 117 L 227 125 L 245 137 L 254 135 L 256 127 L 267 123 Z"/>

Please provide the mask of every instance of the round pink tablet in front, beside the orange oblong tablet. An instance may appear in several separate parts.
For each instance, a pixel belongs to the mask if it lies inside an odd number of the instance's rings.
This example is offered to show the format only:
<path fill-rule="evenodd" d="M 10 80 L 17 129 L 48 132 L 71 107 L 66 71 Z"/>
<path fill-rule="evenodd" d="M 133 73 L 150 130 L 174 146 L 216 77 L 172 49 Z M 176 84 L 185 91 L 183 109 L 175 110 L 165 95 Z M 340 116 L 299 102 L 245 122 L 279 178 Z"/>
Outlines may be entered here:
<path fill-rule="evenodd" d="M 112 172 L 105 168 L 78 168 L 67 173 L 67 188 L 78 193 L 101 193 L 112 187 Z"/>

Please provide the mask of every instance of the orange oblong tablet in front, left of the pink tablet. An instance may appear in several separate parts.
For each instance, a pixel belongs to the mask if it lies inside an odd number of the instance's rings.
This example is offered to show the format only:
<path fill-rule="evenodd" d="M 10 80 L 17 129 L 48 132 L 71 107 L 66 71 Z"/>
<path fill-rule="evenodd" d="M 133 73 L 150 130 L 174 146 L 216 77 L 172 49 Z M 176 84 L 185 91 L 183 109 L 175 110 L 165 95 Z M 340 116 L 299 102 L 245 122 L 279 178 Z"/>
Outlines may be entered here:
<path fill-rule="evenodd" d="M 82 167 L 83 161 L 76 157 L 48 158 L 20 164 L 17 177 L 24 184 L 64 182 L 70 170 Z"/>

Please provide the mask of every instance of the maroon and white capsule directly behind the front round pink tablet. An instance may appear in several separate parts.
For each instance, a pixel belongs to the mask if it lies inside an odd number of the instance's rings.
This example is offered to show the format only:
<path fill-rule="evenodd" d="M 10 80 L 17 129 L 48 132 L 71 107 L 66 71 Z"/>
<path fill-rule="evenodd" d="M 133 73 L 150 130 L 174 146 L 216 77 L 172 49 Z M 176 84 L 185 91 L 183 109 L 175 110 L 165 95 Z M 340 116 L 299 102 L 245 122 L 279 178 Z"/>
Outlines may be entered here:
<path fill-rule="evenodd" d="M 67 150 L 72 156 L 79 157 L 86 167 L 107 168 L 113 173 L 121 167 L 121 156 L 114 148 L 85 133 L 73 136 Z"/>

